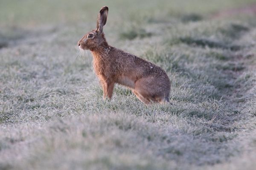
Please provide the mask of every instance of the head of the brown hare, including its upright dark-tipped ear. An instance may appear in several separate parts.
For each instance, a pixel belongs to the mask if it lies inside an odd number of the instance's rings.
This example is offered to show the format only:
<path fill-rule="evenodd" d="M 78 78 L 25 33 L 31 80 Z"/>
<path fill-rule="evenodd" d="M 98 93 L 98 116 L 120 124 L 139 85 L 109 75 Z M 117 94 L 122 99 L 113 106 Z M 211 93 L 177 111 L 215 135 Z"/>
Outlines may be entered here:
<path fill-rule="evenodd" d="M 108 17 L 108 7 L 104 6 L 99 11 L 96 29 L 88 32 L 79 40 L 77 45 L 83 50 L 93 51 L 97 47 L 108 45 L 103 33 L 103 26 L 105 26 Z"/>

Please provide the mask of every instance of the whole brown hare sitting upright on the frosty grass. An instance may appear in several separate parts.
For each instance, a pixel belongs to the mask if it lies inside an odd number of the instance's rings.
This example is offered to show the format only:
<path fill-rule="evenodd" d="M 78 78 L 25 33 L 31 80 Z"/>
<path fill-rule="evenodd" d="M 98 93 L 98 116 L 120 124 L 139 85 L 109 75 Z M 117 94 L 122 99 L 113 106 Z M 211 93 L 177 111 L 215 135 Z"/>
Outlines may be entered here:
<path fill-rule="evenodd" d="M 111 99 L 115 83 L 130 88 L 145 104 L 169 102 L 170 80 L 157 65 L 108 45 L 103 33 L 108 7 L 99 11 L 96 29 L 78 42 L 82 50 L 90 50 L 93 67 L 103 88 L 103 98 Z"/>

